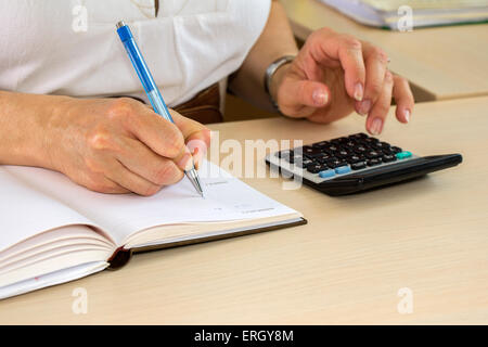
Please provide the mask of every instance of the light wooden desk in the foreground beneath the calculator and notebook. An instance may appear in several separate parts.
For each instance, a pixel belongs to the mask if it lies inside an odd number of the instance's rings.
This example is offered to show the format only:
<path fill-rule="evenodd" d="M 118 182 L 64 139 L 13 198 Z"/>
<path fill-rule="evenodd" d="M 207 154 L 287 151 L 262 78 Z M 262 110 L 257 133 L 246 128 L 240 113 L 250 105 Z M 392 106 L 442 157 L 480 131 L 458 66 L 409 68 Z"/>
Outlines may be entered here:
<path fill-rule="evenodd" d="M 488 98 L 475 98 L 420 104 L 408 126 L 391 115 L 384 140 L 421 155 L 461 152 L 464 163 L 455 168 L 348 197 L 305 187 L 283 191 L 281 179 L 247 179 L 309 223 L 136 255 L 121 270 L 0 301 L 0 324 L 486 324 L 487 110 Z M 312 142 L 362 131 L 363 118 L 213 128 L 222 140 Z M 72 312 L 76 287 L 88 292 L 87 314 Z M 413 293 L 411 314 L 397 311 L 402 287 Z"/>

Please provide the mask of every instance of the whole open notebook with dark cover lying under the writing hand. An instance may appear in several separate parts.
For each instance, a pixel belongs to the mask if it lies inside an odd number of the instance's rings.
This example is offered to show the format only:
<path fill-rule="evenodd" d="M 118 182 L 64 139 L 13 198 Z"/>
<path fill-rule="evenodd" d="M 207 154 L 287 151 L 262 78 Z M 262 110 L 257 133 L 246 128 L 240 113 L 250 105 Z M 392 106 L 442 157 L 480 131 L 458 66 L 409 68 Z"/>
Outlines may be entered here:
<path fill-rule="evenodd" d="M 61 174 L 0 166 L 0 298 L 125 265 L 132 252 L 305 223 L 303 216 L 204 162 L 151 197 L 110 195 Z"/>

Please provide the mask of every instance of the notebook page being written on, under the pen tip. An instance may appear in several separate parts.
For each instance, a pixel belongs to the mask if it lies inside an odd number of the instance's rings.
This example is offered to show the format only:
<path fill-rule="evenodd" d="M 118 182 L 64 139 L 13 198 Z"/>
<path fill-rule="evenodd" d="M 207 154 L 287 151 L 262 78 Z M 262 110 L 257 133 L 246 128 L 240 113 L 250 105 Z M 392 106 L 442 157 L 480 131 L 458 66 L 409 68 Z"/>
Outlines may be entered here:
<path fill-rule="evenodd" d="M 144 197 L 95 193 L 74 184 L 61 174 L 44 169 L 9 169 L 97 222 L 119 246 L 129 235 L 155 226 L 246 220 L 295 213 L 208 162 L 204 162 L 200 170 L 205 200 L 187 178 L 156 195 Z"/>

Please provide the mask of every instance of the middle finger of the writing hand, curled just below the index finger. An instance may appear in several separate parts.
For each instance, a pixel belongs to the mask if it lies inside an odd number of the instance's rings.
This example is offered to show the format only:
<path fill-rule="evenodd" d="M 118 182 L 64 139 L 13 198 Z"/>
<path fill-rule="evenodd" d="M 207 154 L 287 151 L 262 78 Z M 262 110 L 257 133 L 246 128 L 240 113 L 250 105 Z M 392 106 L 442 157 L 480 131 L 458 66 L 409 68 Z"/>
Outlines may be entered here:
<path fill-rule="evenodd" d="M 183 178 L 183 171 L 171 159 L 154 153 L 142 142 L 125 138 L 115 157 L 130 171 L 160 187 Z"/>

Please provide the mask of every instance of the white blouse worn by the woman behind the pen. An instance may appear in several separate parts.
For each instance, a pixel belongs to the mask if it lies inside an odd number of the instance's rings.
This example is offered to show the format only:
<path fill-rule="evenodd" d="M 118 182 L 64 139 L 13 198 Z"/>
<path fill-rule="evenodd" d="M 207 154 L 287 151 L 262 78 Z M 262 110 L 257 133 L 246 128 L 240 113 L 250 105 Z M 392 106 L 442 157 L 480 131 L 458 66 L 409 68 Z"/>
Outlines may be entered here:
<path fill-rule="evenodd" d="M 145 98 L 115 24 L 124 20 L 169 106 L 236 70 L 271 0 L 0 0 L 0 89 Z"/>

